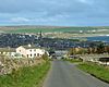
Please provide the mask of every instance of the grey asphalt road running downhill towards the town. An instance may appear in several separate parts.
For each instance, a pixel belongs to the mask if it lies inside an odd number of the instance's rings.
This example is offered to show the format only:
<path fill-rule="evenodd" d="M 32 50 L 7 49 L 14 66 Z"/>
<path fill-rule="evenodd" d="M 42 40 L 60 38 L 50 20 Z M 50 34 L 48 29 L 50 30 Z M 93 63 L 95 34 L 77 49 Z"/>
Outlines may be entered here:
<path fill-rule="evenodd" d="M 78 70 L 70 62 L 56 60 L 43 87 L 109 87 L 109 84 Z"/>

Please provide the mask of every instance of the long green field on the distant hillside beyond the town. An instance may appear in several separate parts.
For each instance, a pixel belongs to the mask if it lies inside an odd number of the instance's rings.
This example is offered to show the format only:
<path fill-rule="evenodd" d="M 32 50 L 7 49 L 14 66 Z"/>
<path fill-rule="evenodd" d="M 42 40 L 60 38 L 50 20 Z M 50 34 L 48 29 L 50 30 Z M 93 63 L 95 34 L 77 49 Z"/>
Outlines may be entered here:
<path fill-rule="evenodd" d="M 16 28 L 12 30 L 5 30 L 5 33 L 66 33 L 78 30 L 94 30 L 94 29 L 109 29 L 109 27 L 60 27 L 60 28 Z"/>

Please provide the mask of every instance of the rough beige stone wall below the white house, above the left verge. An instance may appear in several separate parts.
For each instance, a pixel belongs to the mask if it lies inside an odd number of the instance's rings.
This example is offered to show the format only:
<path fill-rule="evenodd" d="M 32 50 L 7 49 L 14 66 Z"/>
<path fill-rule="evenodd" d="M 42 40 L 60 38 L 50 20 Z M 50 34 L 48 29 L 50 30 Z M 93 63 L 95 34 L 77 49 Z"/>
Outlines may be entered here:
<path fill-rule="evenodd" d="M 32 66 L 41 64 L 45 62 L 41 58 L 39 59 L 10 59 L 4 55 L 0 55 L 0 75 L 10 74 L 12 71 L 17 71 L 17 69 L 23 66 Z"/>

